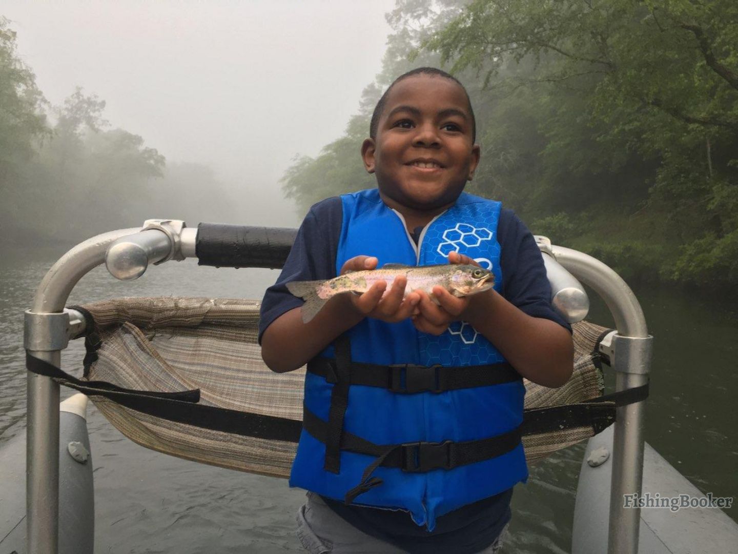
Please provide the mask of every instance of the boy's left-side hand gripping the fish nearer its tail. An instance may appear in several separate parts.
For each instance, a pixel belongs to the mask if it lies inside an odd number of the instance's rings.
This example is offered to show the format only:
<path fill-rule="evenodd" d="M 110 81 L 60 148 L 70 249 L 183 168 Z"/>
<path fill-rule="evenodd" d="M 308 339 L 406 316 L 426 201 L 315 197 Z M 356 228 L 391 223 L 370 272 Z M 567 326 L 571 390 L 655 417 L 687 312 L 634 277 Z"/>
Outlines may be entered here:
<path fill-rule="evenodd" d="M 373 256 L 355 256 L 346 261 L 341 268 L 341 275 L 347 271 L 363 271 L 376 269 L 378 259 Z M 369 318 L 376 318 L 387 323 L 396 323 L 413 315 L 415 304 L 420 295 L 413 292 L 404 298 L 407 278 L 395 278 L 393 287 L 385 295 L 387 281 L 377 281 L 362 295 L 349 295 L 354 308 Z"/>

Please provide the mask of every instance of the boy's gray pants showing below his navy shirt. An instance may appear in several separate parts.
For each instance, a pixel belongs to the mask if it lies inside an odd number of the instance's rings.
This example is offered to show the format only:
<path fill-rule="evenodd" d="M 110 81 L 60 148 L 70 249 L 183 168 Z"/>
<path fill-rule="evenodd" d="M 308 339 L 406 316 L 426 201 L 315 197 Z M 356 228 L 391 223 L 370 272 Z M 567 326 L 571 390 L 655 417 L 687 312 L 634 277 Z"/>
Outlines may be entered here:
<path fill-rule="evenodd" d="M 374 538 L 356 529 L 325 505 L 317 494 L 308 493 L 308 500 L 297 510 L 297 536 L 309 554 L 403 554 L 393 544 Z M 501 537 L 478 554 L 497 554 Z"/>

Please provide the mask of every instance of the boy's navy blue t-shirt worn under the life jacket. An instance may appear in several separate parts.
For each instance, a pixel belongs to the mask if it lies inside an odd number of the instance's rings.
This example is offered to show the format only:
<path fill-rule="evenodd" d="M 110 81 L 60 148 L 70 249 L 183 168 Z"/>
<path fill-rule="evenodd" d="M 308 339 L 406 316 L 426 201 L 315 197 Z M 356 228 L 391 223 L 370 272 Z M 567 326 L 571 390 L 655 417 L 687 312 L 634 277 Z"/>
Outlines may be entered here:
<path fill-rule="evenodd" d="M 261 304 L 259 342 L 272 321 L 303 300 L 289 293 L 290 281 L 317 281 L 336 276 L 336 253 L 343 220 L 338 196 L 314 205 L 297 232 L 292 250 L 277 282 L 266 290 Z M 417 242 L 418 230 L 411 230 Z M 503 274 L 502 295 L 511 304 L 535 318 L 556 321 L 571 327 L 551 307 L 551 287 L 546 278 L 539 248 L 528 228 L 506 208 L 497 224 L 500 266 Z M 368 256 L 372 253 L 367 252 Z M 402 510 L 378 510 L 346 506 L 322 497 L 328 507 L 354 527 L 370 536 L 395 544 L 410 553 L 476 553 L 489 547 L 510 520 L 512 489 L 438 517 L 429 533 L 418 527 L 410 514 Z"/>

